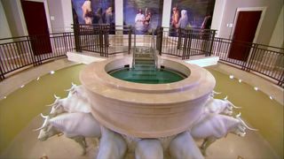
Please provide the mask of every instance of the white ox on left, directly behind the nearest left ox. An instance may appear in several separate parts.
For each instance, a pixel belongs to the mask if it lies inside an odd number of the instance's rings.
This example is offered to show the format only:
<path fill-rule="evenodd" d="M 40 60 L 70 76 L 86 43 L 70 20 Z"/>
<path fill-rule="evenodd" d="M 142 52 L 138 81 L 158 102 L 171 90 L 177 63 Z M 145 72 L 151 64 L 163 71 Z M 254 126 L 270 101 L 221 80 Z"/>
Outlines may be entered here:
<path fill-rule="evenodd" d="M 55 102 L 48 105 L 51 106 L 50 116 L 55 117 L 63 112 L 91 112 L 91 103 L 81 96 L 72 95 L 67 98 L 60 99 L 58 96 L 54 95 L 56 98 Z"/>

